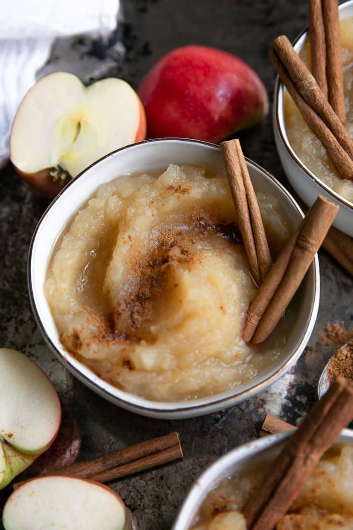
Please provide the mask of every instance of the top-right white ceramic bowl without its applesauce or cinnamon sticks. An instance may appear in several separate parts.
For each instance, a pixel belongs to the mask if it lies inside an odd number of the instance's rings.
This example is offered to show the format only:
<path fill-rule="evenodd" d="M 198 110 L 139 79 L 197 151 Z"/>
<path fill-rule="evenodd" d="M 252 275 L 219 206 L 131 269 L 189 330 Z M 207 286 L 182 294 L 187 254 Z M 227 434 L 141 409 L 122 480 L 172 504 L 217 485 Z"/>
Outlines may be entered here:
<path fill-rule="evenodd" d="M 347 0 L 339 6 L 340 19 L 353 16 L 353 0 Z M 302 49 L 307 35 L 307 30 L 293 42 L 296 52 Z M 322 182 L 305 164 L 298 158 L 289 144 L 284 122 L 284 87 L 277 76 L 275 83 L 274 105 L 273 105 L 273 127 L 275 142 L 280 161 L 288 177 L 289 182 L 297 192 L 298 196 L 311 206 L 318 195 L 331 199 L 340 206 L 339 212 L 334 219 L 333 225 L 342 232 L 353 236 L 353 203 L 333 191 L 327 184 Z"/>

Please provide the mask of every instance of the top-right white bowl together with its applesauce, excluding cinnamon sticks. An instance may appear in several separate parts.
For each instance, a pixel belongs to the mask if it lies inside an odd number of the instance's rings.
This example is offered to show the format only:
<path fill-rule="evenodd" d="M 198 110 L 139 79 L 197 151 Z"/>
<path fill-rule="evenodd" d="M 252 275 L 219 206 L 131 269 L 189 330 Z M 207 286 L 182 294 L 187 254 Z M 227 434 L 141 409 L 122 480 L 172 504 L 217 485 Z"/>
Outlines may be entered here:
<path fill-rule="evenodd" d="M 353 0 L 339 5 L 339 15 L 346 101 L 345 127 L 353 137 Z M 293 47 L 310 69 L 307 30 L 297 37 Z M 313 204 L 318 195 L 337 202 L 340 210 L 333 225 L 353 236 L 353 178 L 343 179 L 339 176 L 320 140 L 304 121 L 278 76 L 273 124 L 280 161 L 294 190 L 308 206 Z"/>

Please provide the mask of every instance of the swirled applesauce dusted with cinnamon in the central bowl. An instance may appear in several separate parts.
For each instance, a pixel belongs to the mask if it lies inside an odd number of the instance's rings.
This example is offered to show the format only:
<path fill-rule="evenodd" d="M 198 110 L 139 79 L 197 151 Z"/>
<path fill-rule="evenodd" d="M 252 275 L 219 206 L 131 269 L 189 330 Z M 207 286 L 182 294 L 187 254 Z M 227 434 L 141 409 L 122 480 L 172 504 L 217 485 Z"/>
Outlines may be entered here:
<path fill-rule="evenodd" d="M 273 255 L 289 227 L 258 193 Z M 225 176 L 169 165 L 102 185 L 57 244 L 46 296 L 65 348 L 105 381 L 152 400 L 235 387 L 273 364 L 241 338 L 256 286 Z"/>

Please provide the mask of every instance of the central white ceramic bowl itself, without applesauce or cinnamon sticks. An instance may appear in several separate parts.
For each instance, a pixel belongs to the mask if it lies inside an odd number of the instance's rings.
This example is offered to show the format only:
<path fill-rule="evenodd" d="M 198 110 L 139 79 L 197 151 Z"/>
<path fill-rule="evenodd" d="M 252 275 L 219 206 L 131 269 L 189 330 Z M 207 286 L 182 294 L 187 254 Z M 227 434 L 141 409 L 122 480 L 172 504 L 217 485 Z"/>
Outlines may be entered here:
<path fill-rule="evenodd" d="M 123 173 L 144 172 L 169 163 L 204 164 L 211 170 L 225 172 L 219 146 L 186 139 L 157 139 L 124 147 L 106 155 L 89 166 L 70 182 L 51 203 L 41 218 L 30 246 L 29 291 L 35 318 L 49 347 L 64 362 L 71 373 L 109 401 L 124 409 L 156 418 L 187 418 L 201 416 L 230 407 L 254 395 L 284 375 L 295 363 L 310 338 L 319 306 L 319 262 L 316 256 L 304 279 L 301 307 L 287 345 L 267 372 L 234 390 L 188 402 L 157 402 L 124 392 L 96 376 L 62 347 L 55 322 L 44 295 L 44 279 L 59 235 L 71 216 L 84 205 L 92 193 L 104 182 Z M 285 188 L 254 162 L 247 161 L 255 188 L 273 193 L 289 222 L 296 226 L 303 214 Z"/>

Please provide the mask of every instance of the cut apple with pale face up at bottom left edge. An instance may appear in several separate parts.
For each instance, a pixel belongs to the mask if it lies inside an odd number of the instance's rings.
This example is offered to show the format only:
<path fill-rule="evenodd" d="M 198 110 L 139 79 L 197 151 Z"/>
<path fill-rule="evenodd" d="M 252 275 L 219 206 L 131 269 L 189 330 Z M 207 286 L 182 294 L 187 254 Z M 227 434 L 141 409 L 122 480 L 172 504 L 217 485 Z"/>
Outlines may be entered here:
<path fill-rule="evenodd" d="M 123 501 L 92 480 L 47 476 L 23 484 L 7 499 L 5 530 L 128 530 Z"/>

